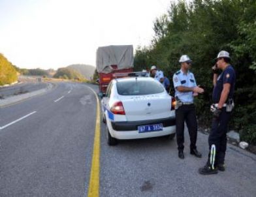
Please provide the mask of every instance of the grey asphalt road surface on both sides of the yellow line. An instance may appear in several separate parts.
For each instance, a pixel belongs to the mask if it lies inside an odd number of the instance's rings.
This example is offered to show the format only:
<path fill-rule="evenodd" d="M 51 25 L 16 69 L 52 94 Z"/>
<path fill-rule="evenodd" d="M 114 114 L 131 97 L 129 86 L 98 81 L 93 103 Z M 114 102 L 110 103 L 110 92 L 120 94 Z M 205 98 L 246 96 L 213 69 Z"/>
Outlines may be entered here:
<path fill-rule="evenodd" d="M 87 196 L 97 104 L 88 86 L 97 91 L 95 85 L 59 83 L 0 108 L 0 196 Z M 101 123 L 100 196 L 256 196 L 256 155 L 228 145 L 227 170 L 203 176 L 198 168 L 208 154 L 205 134 L 197 143 L 203 158 L 189 154 L 186 132 L 180 160 L 176 138 L 109 147 L 104 128 Z"/>

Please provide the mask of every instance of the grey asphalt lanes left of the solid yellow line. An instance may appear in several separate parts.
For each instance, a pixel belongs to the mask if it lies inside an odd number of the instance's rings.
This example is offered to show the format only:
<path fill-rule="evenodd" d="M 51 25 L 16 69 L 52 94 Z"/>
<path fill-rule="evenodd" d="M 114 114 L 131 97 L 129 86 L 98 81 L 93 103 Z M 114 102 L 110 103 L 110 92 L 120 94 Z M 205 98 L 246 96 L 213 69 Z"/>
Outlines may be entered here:
<path fill-rule="evenodd" d="M 61 99 L 60 99 L 61 98 Z M 95 95 L 78 83 L 0 109 L 0 196 L 84 196 Z"/>

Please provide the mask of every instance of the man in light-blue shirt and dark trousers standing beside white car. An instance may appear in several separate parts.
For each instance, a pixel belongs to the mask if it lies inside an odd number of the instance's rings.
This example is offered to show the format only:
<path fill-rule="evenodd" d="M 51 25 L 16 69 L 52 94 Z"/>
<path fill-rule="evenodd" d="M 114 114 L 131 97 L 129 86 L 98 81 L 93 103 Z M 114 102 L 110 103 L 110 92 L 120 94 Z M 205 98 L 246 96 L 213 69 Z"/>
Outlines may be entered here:
<path fill-rule="evenodd" d="M 196 157 L 202 157 L 197 151 L 197 119 L 193 97 L 203 93 L 204 89 L 197 86 L 195 77 L 189 71 L 191 59 L 187 55 L 180 57 L 181 69 L 173 76 L 173 84 L 176 98 L 176 139 L 178 144 L 178 157 L 184 159 L 184 121 L 190 136 L 190 153 Z"/>

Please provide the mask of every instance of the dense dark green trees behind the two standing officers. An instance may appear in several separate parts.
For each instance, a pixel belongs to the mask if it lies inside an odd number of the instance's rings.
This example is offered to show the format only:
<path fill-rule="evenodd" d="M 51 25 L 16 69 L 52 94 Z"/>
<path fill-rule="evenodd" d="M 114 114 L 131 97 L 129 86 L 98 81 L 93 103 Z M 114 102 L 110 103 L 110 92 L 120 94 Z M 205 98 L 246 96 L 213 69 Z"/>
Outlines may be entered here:
<path fill-rule="evenodd" d="M 172 3 L 167 14 L 155 20 L 152 44 L 137 48 L 135 69 L 157 65 L 172 80 L 180 56 L 189 55 L 197 84 L 206 90 L 196 100 L 199 124 L 210 127 L 211 67 L 217 53 L 227 50 L 237 77 L 230 129 L 256 144 L 256 1 L 189 2 Z"/>

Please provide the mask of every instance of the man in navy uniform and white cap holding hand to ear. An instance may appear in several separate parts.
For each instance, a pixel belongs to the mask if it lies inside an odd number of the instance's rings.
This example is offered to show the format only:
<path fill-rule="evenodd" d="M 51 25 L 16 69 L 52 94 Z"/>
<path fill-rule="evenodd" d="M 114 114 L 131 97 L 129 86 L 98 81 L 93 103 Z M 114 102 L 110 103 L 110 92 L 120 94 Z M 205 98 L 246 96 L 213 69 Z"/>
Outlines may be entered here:
<path fill-rule="evenodd" d="M 231 57 L 226 51 L 217 55 L 217 63 L 212 67 L 214 71 L 214 91 L 211 111 L 213 112 L 212 130 L 210 132 L 208 161 L 203 168 L 199 168 L 200 174 L 217 174 L 217 170 L 225 171 L 225 152 L 227 149 L 227 126 L 234 103 L 234 83 L 236 74 L 230 64 Z M 218 76 L 217 69 L 222 72 Z"/>

